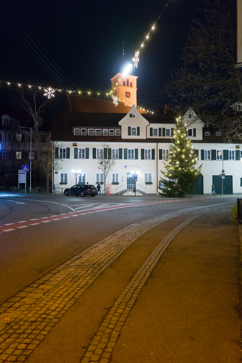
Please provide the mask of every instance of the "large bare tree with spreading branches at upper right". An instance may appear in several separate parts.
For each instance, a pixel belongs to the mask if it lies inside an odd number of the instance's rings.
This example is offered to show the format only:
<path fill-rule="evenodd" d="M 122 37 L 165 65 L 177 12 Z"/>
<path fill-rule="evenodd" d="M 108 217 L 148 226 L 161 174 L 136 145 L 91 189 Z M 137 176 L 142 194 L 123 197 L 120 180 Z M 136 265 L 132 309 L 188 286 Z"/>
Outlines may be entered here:
<path fill-rule="evenodd" d="M 234 102 L 242 103 L 242 69 L 234 68 L 236 1 L 201 0 L 200 10 L 202 20 L 190 27 L 181 69 L 167 90 L 181 113 L 191 108 L 225 141 L 241 140 L 241 114 L 228 112 Z"/>

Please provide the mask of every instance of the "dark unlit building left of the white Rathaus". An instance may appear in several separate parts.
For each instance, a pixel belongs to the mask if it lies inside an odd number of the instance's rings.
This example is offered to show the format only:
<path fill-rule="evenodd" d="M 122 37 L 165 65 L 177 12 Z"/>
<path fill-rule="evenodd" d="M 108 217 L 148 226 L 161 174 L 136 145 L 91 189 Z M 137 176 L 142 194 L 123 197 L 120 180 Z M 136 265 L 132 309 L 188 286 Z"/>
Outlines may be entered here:
<path fill-rule="evenodd" d="M 48 117 L 46 113 L 39 116 L 39 123 L 41 126 L 38 129 L 38 133 L 42 156 L 44 156 L 48 150 L 52 150 L 52 143 L 50 142 L 52 123 L 49 120 L 47 121 L 46 117 Z M 19 120 L 21 128 L 17 126 L 16 120 Z M 26 115 L 24 111 L 12 109 L 10 107 L 0 107 L 1 184 L 18 184 L 18 171 L 22 170 L 22 165 L 30 165 L 30 157 L 32 171 L 36 171 L 37 148 L 34 134 L 32 134 L 30 155 L 30 128 L 32 126 L 33 122 L 28 119 L 28 115 Z M 37 180 L 36 182 L 38 184 Z"/>

